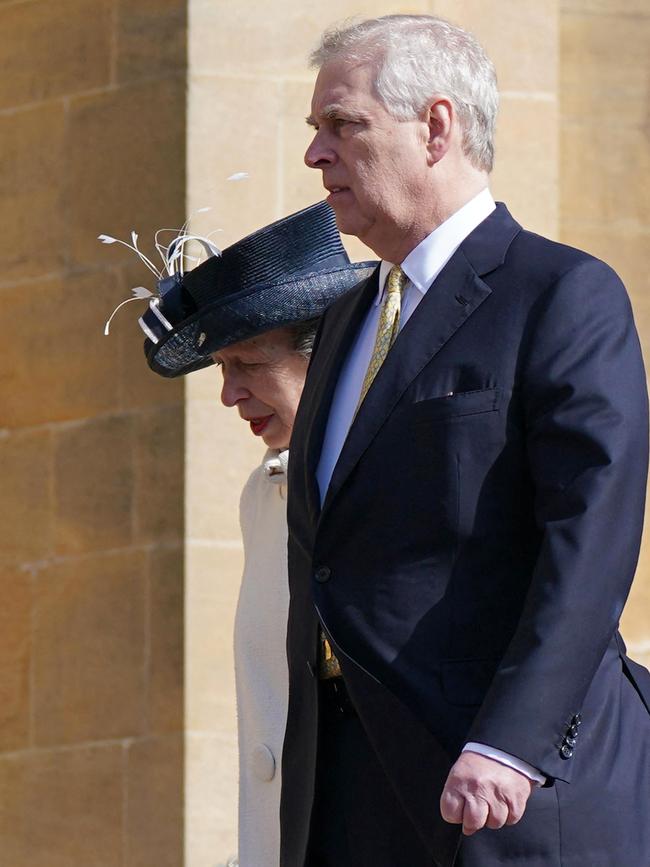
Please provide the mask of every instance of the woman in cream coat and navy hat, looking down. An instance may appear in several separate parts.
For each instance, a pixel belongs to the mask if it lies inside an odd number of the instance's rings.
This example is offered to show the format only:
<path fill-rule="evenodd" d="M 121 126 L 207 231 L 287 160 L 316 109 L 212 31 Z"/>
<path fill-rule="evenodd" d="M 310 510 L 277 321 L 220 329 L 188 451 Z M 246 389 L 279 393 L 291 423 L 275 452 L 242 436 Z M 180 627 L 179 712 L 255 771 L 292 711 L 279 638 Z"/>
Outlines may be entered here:
<path fill-rule="evenodd" d="M 374 263 L 351 264 L 324 202 L 159 283 L 140 324 L 152 370 L 216 363 L 221 400 L 268 451 L 241 497 L 245 567 L 235 622 L 239 865 L 278 867 L 288 701 L 286 471 L 317 319 Z M 229 862 L 234 864 L 237 862 Z"/>

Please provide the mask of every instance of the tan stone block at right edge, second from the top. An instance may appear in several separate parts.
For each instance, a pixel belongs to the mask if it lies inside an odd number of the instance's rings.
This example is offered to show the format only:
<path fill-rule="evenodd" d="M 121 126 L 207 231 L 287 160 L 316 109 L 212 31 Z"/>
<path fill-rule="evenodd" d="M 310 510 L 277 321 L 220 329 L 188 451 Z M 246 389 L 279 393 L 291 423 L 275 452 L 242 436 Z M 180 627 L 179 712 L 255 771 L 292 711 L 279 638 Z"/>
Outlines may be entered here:
<path fill-rule="evenodd" d="M 641 129 L 564 123 L 560 190 L 562 218 L 589 227 L 650 225 L 650 149 Z"/>

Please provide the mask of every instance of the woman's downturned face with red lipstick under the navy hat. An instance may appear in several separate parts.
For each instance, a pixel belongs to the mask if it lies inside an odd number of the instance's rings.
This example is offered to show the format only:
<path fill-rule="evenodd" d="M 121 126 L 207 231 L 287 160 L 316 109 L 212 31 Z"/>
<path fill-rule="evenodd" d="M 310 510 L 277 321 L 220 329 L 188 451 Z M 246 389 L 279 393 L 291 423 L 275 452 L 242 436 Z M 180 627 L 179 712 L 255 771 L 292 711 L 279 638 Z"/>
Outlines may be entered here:
<path fill-rule="evenodd" d="M 236 406 L 269 448 L 287 448 L 308 363 L 294 350 L 291 331 L 277 328 L 212 357 L 223 373 L 221 402 Z"/>

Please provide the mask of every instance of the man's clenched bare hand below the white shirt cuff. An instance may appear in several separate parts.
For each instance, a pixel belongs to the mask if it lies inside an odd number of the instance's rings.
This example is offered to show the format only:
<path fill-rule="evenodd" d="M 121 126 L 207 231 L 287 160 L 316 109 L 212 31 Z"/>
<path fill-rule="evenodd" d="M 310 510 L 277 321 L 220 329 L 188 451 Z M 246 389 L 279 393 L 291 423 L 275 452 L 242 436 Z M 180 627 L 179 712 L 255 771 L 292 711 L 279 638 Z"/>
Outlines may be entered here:
<path fill-rule="evenodd" d="M 478 753 L 462 753 L 445 783 L 440 812 L 445 822 L 462 824 L 467 836 L 481 828 L 514 825 L 524 815 L 534 783 Z"/>

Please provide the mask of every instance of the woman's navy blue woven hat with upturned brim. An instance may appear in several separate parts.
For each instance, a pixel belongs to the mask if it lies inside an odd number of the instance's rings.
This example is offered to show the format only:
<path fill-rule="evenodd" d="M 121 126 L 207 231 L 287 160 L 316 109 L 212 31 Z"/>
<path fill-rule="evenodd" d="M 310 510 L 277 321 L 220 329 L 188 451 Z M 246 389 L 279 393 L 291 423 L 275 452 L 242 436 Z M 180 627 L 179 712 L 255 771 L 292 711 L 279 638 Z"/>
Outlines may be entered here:
<path fill-rule="evenodd" d="M 376 265 L 350 262 L 325 202 L 284 217 L 160 281 L 160 299 L 140 319 L 149 367 L 183 376 L 224 346 L 314 319 Z"/>

